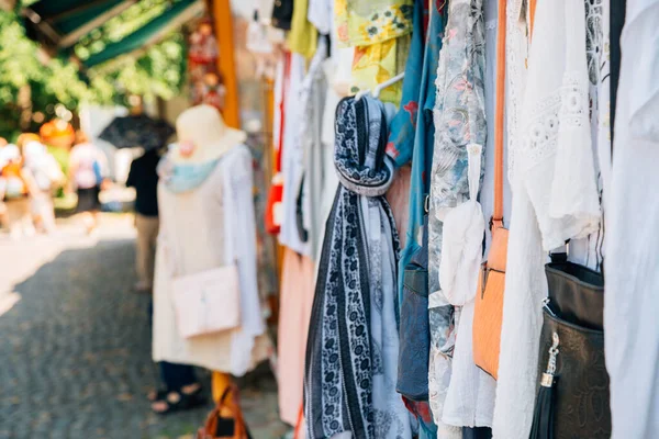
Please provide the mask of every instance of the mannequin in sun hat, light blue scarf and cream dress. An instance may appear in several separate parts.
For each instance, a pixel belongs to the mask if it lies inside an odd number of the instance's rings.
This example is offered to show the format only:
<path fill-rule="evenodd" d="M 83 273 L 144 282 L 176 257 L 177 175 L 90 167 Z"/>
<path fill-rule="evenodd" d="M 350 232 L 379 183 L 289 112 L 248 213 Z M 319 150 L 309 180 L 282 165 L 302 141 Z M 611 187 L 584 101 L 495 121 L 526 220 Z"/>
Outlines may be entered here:
<path fill-rule="evenodd" d="M 252 156 L 243 145 L 245 133 L 227 127 L 210 105 L 185 111 L 177 135 L 178 144 L 158 166 L 153 358 L 239 376 L 271 351 L 257 291 Z M 171 302 L 172 280 L 232 263 L 238 269 L 241 326 L 182 338 Z M 182 391 L 178 393 L 186 402 Z M 179 408 L 169 398 L 166 403 L 165 412 Z"/>

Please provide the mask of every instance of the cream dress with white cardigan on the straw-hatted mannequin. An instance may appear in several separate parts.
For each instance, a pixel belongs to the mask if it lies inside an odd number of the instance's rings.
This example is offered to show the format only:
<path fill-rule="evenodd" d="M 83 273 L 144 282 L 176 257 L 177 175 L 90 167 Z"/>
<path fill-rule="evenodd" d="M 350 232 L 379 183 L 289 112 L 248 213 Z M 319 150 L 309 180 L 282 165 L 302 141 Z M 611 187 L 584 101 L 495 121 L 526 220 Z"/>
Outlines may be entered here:
<path fill-rule="evenodd" d="M 158 185 L 160 234 L 154 282 L 154 361 L 194 364 L 243 375 L 271 350 L 256 278 L 252 156 L 239 145 L 194 191 L 175 194 Z M 230 263 L 238 267 L 241 327 L 180 337 L 171 301 L 175 275 Z"/>

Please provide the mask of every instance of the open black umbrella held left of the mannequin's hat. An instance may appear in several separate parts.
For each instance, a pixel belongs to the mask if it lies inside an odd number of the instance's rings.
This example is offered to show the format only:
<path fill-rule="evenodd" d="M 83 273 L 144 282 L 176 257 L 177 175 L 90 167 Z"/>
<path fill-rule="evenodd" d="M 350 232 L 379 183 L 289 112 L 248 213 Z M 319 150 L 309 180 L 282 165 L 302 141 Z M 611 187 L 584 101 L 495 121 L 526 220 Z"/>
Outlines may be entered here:
<path fill-rule="evenodd" d="M 139 114 L 115 117 L 99 137 L 118 148 L 141 146 L 149 150 L 165 146 L 174 133 L 174 127 L 166 121 Z"/>

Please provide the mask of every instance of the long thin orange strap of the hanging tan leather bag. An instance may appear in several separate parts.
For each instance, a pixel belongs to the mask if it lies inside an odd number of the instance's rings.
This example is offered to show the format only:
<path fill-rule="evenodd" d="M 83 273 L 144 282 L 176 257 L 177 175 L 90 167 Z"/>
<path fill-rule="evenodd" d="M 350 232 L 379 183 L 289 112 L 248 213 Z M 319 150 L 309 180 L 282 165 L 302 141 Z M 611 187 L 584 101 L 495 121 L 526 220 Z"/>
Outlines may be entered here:
<path fill-rule="evenodd" d="M 494 213 L 490 228 L 503 227 L 503 117 L 505 112 L 506 1 L 499 2 L 496 33 L 496 104 L 494 115 Z"/>

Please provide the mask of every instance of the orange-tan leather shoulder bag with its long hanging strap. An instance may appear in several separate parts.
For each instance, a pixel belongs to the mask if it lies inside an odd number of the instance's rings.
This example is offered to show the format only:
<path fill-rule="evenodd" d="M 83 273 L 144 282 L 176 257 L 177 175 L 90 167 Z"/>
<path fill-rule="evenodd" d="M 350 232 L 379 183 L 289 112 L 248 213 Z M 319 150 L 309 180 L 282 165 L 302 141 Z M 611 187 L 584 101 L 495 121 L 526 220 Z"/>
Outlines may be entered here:
<path fill-rule="evenodd" d="M 509 230 L 503 227 L 503 114 L 505 85 L 505 1 L 499 4 L 496 35 L 496 115 L 494 120 L 494 214 L 492 245 L 481 267 L 473 313 L 473 361 L 498 378 Z"/>

